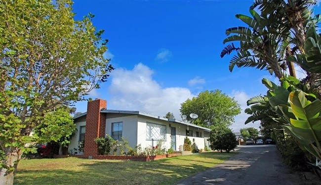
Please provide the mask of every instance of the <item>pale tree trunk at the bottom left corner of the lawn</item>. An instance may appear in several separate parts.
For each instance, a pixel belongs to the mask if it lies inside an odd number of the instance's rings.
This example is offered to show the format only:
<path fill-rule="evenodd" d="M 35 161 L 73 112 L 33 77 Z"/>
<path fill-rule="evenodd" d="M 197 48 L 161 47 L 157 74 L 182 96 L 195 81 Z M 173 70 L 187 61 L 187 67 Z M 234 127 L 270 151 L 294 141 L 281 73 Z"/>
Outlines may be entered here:
<path fill-rule="evenodd" d="M 18 151 L 19 152 L 14 151 L 7 153 L 7 158 L 2 161 L 4 165 L 13 169 L 0 168 L 0 185 L 13 185 L 13 178 L 17 170 L 18 161 L 22 155 L 21 150 Z"/>

